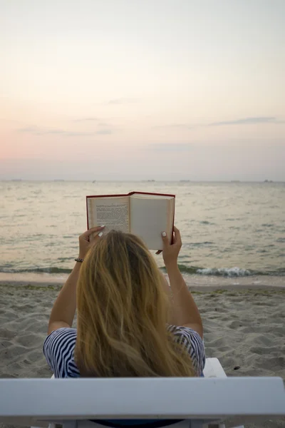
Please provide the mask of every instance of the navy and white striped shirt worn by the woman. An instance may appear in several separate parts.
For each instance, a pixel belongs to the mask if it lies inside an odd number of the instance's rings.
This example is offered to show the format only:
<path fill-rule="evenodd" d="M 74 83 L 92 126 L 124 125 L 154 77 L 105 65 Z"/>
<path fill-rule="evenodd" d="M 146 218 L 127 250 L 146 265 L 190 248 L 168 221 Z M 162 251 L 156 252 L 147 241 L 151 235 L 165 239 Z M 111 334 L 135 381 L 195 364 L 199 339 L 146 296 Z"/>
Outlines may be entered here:
<path fill-rule="evenodd" d="M 202 374 L 205 364 L 204 344 L 197 332 L 188 327 L 168 325 L 177 343 L 185 346 L 190 354 L 197 376 Z M 55 377 L 80 377 L 74 360 L 76 329 L 62 327 L 51 332 L 43 343 L 43 354 Z"/>

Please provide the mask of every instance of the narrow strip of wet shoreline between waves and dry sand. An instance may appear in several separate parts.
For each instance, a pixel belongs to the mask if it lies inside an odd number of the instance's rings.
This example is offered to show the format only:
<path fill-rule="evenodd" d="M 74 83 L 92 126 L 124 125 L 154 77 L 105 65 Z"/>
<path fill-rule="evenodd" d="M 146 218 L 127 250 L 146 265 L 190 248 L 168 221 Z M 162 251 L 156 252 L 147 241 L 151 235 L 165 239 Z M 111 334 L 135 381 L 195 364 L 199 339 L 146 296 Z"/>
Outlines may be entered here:
<path fill-rule="evenodd" d="M 47 273 L 0 272 L 0 285 L 11 287 L 61 287 L 68 275 Z M 207 290 L 285 290 L 284 276 L 257 275 L 247 277 L 217 277 L 210 275 L 187 275 L 183 277 L 193 291 Z"/>

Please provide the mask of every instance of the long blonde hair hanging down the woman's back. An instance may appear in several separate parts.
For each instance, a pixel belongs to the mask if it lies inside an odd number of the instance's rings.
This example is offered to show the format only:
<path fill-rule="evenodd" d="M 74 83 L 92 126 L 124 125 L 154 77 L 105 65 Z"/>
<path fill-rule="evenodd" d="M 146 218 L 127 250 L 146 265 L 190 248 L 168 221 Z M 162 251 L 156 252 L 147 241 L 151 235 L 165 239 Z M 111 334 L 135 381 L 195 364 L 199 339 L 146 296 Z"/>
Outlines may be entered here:
<path fill-rule="evenodd" d="M 195 376 L 167 332 L 169 301 L 135 235 L 111 231 L 88 252 L 77 285 L 76 363 L 86 377 Z"/>

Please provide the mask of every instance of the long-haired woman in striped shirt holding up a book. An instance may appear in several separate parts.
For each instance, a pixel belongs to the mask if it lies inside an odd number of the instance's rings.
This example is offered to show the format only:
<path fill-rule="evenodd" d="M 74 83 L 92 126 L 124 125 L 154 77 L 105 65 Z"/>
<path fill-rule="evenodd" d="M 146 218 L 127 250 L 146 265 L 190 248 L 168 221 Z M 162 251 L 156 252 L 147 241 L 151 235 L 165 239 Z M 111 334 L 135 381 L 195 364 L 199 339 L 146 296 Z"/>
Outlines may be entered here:
<path fill-rule="evenodd" d="M 162 232 L 169 287 L 138 237 L 103 229 L 79 237 L 51 311 L 43 352 L 55 377 L 201 376 L 202 320 L 177 266 L 179 230 L 172 245 Z"/>

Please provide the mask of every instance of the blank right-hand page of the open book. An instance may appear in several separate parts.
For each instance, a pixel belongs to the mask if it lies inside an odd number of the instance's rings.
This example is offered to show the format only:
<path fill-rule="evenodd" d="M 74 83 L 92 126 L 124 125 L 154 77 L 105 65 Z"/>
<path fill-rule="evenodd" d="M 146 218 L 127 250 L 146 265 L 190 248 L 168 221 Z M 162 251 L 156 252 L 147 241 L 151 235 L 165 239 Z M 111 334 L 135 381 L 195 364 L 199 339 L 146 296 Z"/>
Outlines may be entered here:
<path fill-rule="evenodd" d="M 138 235 L 150 250 L 162 250 L 161 233 L 172 234 L 174 198 L 130 196 L 130 233 Z"/>

